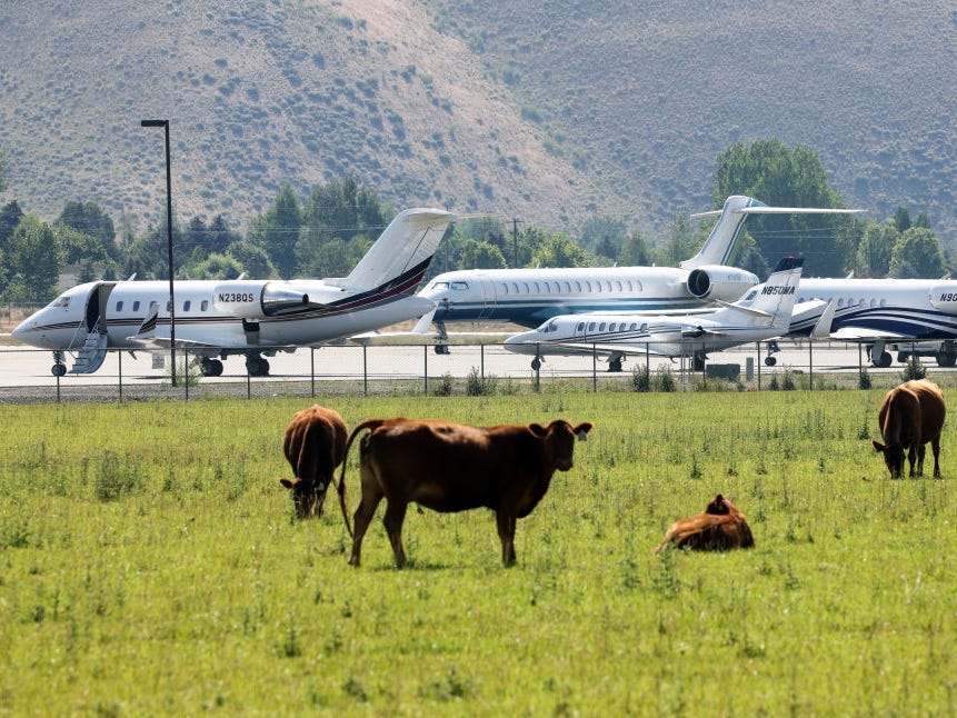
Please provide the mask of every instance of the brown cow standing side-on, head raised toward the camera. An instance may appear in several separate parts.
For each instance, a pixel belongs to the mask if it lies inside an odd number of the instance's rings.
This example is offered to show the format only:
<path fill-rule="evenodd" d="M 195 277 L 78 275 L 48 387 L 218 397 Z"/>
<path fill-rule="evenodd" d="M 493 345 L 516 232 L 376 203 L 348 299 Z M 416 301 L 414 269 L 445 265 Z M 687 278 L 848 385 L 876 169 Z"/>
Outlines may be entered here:
<path fill-rule="evenodd" d="M 363 421 L 346 443 L 348 453 L 352 440 L 369 431 L 360 441 L 362 498 L 356 509 L 349 562 L 359 566 L 362 537 L 385 498 L 383 522 L 399 568 L 406 564 L 402 521 L 411 502 L 436 511 L 491 509 L 501 539 L 501 560 L 511 566 L 516 520 L 538 505 L 556 469 L 571 468 L 575 439 L 585 440 L 591 426 L 572 427 L 562 419 L 547 427 L 472 427 L 400 418 Z M 343 515 L 345 486 L 343 463 L 339 478 Z"/>

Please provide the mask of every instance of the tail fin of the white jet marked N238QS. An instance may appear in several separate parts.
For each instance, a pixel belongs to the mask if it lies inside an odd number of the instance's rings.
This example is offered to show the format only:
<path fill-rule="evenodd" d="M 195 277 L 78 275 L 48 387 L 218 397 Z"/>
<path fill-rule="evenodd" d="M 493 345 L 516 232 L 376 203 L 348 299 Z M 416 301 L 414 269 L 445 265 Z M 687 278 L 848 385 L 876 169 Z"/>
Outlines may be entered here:
<path fill-rule="evenodd" d="M 440 209 L 402 210 L 347 278 L 335 282 L 327 280 L 327 283 L 371 290 L 402 281 L 409 283 L 408 293 L 415 292 L 439 241 L 455 219 L 455 215 Z"/>

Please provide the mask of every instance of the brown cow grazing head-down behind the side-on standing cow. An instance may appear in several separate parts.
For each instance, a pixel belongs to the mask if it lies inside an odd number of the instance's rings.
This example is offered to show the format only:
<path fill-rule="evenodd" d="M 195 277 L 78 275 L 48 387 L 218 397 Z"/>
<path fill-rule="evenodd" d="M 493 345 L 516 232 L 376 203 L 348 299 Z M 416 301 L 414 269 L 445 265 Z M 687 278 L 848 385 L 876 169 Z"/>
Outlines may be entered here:
<path fill-rule="evenodd" d="M 292 491 L 298 518 L 318 516 L 322 511 L 336 467 L 346 456 L 347 435 L 342 417 L 318 405 L 298 411 L 286 427 L 282 452 L 295 478 L 279 479 L 279 482 Z"/>

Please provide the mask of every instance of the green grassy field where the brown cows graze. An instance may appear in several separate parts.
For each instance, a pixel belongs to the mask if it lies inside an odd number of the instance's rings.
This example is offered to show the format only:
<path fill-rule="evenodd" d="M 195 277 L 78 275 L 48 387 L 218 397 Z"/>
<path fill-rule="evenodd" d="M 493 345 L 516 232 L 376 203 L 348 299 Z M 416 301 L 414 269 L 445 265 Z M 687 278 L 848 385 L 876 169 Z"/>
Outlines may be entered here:
<path fill-rule="evenodd" d="M 4 407 L 0 712 L 954 715 L 957 439 L 891 481 L 885 390 L 320 399 L 596 425 L 515 568 L 488 511 L 410 511 L 401 571 L 381 507 L 359 569 L 335 505 L 292 520 L 308 401 Z M 717 492 L 755 549 L 652 556 Z"/>

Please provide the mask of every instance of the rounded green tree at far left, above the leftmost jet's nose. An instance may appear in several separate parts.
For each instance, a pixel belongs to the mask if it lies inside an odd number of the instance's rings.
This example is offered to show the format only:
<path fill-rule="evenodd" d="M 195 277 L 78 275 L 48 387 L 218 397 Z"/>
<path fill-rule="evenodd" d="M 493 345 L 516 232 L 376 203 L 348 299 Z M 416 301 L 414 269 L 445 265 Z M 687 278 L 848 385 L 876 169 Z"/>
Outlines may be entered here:
<path fill-rule="evenodd" d="M 36 215 L 27 215 L 10 239 L 7 265 L 8 301 L 41 302 L 56 296 L 63 260 L 53 229 Z"/>

